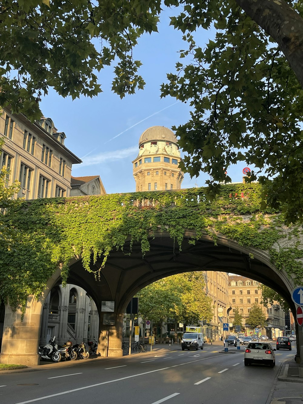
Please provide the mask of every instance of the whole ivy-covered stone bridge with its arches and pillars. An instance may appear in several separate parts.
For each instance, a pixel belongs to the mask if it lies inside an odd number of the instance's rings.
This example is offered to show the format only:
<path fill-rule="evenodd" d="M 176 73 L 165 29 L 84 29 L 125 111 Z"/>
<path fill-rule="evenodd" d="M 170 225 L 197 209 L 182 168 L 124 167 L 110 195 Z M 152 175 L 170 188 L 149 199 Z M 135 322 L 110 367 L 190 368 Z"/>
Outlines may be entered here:
<path fill-rule="evenodd" d="M 95 301 L 101 355 L 122 356 L 123 316 L 136 292 L 186 271 L 225 271 L 257 280 L 276 290 L 296 317 L 291 291 L 303 282 L 302 229 L 286 227 L 280 212 L 261 212 L 260 195 L 257 184 L 237 184 L 222 186 L 215 200 L 196 188 L 21 202 L 5 215 L 19 240 L 8 253 L 2 250 L 3 265 L 8 274 L 19 265 L 20 277 L 11 288 L 16 282 L 23 286 L 17 289 L 17 309 L 8 295 L 0 362 L 38 364 L 43 304 L 62 280 L 81 286 Z M 39 269 L 44 267 L 48 270 Z M 115 301 L 107 347 L 102 301 Z M 302 327 L 296 325 L 296 333 L 303 358 Z"/>

